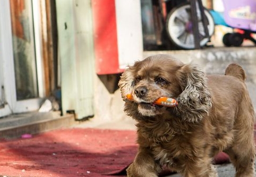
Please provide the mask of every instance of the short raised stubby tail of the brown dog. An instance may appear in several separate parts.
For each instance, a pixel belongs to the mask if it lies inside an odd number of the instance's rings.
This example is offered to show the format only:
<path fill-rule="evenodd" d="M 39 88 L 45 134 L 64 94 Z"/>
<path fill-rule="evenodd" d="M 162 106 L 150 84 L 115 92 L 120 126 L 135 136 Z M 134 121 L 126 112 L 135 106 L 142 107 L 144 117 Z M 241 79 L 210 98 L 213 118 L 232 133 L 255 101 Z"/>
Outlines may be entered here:
<path fill-rule="evenodd" d="M 234 76 L 242 81 L 245 80 L 245 72 L 243 68 L 236 63 L 229 64 L 226 68 L 225 75 Z"/>

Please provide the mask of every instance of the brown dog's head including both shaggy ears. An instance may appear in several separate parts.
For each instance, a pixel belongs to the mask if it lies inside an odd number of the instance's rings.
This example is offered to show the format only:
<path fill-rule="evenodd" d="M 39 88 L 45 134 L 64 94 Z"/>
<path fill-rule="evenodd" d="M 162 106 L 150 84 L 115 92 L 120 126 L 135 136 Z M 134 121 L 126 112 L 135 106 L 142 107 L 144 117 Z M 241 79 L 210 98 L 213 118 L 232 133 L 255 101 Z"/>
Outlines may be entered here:
<path fill-rule="evenodd" d="M 135 119 L 170 115 L 197 122 L 211 107 L 206 80 L 204 72 L 197 66 L 160 54 L 127 68 L 118 86 L 126 101 L 125 112 Z M 134 100 L 127 100 L 127 94 L 132 94 Z M 167 108 L 153 104 L 159 97 L 175 98 L 178 106 Z"/>

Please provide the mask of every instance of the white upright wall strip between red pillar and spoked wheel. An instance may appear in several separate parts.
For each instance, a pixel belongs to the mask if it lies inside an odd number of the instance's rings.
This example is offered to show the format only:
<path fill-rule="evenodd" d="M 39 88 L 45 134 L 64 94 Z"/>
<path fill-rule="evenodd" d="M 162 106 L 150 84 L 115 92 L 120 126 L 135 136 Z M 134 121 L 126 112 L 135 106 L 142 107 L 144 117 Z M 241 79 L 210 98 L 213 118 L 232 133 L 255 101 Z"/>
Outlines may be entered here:
<path fill-rule="evenodd" d="M 141 7 L 138 0 L 116 0 L 118 59 L 120 68 L 142 58 Z"/>

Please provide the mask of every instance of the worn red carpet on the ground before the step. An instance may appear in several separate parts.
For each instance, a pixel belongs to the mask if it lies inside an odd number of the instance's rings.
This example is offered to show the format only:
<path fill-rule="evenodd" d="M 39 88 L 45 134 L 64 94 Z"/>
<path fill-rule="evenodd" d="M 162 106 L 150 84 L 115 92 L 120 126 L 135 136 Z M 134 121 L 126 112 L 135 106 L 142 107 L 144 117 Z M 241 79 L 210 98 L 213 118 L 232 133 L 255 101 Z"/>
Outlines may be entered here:
<path fill-rule="evenodd" d="M 61 129 L 2 140 L 0 176 L 109 177 L 133 161 L 135 141 L 135 131 L 103 129 Z M 226 162 L 227 156 L 220 154 L 217 161 Z"/>

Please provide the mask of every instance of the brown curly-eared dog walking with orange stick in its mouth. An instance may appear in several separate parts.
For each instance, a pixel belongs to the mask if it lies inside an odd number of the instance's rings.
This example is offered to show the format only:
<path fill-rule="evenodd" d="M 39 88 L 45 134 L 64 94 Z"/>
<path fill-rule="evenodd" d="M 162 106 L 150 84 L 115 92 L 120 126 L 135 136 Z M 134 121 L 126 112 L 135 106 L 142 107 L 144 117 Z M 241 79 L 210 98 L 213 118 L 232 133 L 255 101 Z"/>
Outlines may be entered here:
<path fill-rule="evenodd" d="M 118 85 L 124 111 L 138 122 L 139 144 L 127 176 L 155 177 L 166 166 L 185 177 L 216 177 L 212 157 L 221 151 L 236 167 L 236 177 L 254 176 L 254 110 L 244 80 L 238 64 L 230 64 L 225 76 L 206 77 L 169 55 L 127 68 Z M 175 98 L 178 106 L 153 104 L 161 96 Z"/>

